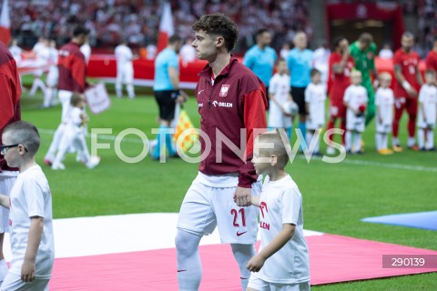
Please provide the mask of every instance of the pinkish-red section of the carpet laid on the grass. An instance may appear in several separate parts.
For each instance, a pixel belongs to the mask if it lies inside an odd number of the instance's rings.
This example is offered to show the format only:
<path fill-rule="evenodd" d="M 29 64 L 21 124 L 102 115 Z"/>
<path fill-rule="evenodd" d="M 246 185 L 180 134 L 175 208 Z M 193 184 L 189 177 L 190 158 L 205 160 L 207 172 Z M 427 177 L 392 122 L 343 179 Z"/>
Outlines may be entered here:
<path fill-rule="evenodd" d="M 347 236 L 309 236 L 311 285 L 437 272 L 436 268 L 382 268 L 382 255 L 436 255 L 437 251 Z M 200 290 L 240 290 L 229 245 L 200 246 Z M 178 290 L 176 250 L 56 259 L 50 288 L 56 291 Z"/>

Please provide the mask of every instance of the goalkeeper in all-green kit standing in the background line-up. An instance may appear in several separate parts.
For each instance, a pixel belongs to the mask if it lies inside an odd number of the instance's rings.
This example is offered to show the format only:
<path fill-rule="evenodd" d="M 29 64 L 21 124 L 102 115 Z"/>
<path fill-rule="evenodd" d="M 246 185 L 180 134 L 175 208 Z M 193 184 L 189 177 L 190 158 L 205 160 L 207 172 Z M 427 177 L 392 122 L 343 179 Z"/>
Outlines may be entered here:
<path fill-rule="evenodd" d="M 355 61 L 355 69 L 359 70 L 362 75 L 362 83 L 369 97 L 366 112 L 366 126 L 369 125 L 375 116 L 375 91 L 371 82 L 371 74 L 378 80 L 378 74 L 375 66 L 375 56 L 377 55 L 377 48 L 373 42 L 373 36 L 368 33 L 360 35 L 358 40 L 351 44 L 351 56 Z"/>

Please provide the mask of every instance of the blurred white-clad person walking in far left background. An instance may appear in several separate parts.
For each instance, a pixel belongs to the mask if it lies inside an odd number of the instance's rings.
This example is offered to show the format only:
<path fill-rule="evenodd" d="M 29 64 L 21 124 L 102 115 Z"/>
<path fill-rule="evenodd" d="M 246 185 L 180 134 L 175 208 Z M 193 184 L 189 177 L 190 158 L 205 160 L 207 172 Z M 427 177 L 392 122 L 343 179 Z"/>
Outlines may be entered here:
<path fill-rule="evenodd" d="M 47 39 L 44 36 L 40 36 L 36 45 L 32 49 L 36 57 L 36 62 L 38 65 L 43 66 L 46 65 L 50 58 L 50 49 L 48 47 Z M 44 84 L 41 79 L 44 75 L 44 69 L 36 69 L 34 73 L 34 82 L 32 83 L 32 87 L 30 88 L 29 95 L 33 96 L 36 94 L 36 90 L 41 88 L 43 94 L 46 94 L 46 84 Z"/>

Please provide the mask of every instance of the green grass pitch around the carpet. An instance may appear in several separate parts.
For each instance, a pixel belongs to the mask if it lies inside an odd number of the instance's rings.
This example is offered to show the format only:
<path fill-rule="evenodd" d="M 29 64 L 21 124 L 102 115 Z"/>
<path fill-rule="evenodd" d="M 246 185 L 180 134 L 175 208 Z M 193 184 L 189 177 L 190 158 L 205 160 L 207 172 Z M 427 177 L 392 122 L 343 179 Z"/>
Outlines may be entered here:
<path fill-rule="evenodd" d="M 31 78 L 25 77 L 25 85 Z M 113 88 L 108 85 L 109 90 Z M 111 95 L 111 108 L 90 115 L 90 128 L 112 128 L 115 136 L 134 127 L 149 138 L 157 125 L 158 108 L 150 91 L 137 87 L 137 98 L 117 99 Z M 46 150 L 60 120 L 60 105 L 40 109 L 42 95 L 22 95 L 22 118 L 38 126 L 42 144 L 37 162 L 42 165 Z M 188 115 L 198 126 L 197 104 L 190 99 Z M 402 119 L 401 141 L 406 141 L 406 117 Z M 437 153 L 404 151 L 380 156 L 374 150 L 374 124 L 364 133 L 366 153 L 347 157 L 340 164 L 297 157 L 287 167 L 300 186 L 304 199 L 305 228 L 342 236 L 416 246 L 437 250 L 437 233 L 400 226 L 362 223 L 367 216 L 436 210 Z M 293 136 L 293 142 L 295 135 Z M 90 140 L 87 139 L 88 148 Z M 137 164 L 127 164 L 110 150 L 99 150 L 101 165 L 94 170 L 76 163 L 75 155 L 66 157 L 66 171 L 52 171 L 43 166 L 53 193 L 55 218 L 105 216 L 150 212 L 178 212 L 182 199 L 196 176 L 198 165 L 180 159 L 159 164 L 147 156 Z M 136 135 L 127 135 L 121 149 L 127 156 L 137 156 L 142 144 Z M 322 146 L 324 151 L 324 146 Z M 145 226 L 147 227 L 147 226 Z M 80 234 L 79 234 L 80 235 Z M 356 262 L 360 264 L 360 262 Z M 400 276 L 329 286 L 314 290 L 436 290 L 437 273 Z"/>

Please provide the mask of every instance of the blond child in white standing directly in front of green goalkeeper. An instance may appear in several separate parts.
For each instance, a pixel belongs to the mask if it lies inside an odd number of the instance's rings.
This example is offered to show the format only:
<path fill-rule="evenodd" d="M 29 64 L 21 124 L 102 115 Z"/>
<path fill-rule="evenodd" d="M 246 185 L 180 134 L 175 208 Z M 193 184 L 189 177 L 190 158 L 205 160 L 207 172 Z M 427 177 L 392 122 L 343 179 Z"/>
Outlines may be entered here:
<path fill-rule="evenodd" d="M 346 112 L 346 151 L 352 154 L 361 153 L 361 134 L 365 128 L 367 90 L 361 85 L 361 72 L 352 71 L 351 85 L 344 92 Z M 353 133 L 353 151 L 352 151 Z"/>

